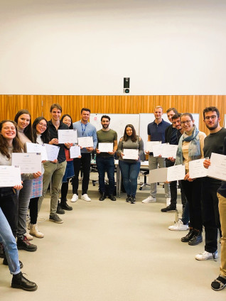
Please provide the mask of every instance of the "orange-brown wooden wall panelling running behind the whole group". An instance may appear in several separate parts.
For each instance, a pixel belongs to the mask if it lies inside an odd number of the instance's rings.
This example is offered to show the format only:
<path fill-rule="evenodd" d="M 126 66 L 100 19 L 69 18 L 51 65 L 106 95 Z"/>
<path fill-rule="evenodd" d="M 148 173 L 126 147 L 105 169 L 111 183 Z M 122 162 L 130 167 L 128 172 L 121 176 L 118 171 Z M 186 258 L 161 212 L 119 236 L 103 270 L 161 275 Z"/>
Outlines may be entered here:
<path fill-rule="evenodd" d="M 217 106 L 223 117 L 226 114 L 226 95 L 0 95 L 0 120 L 14 119 L 19 109 L 28 109 L 32 121 L 38 116 L 50 119 L 50 105 L 59 103 L 63 114 L 70 114 L 73 121 L 80 119 L 82 107 L 92 113 L 139 114 L 153 113 L 155 106 L 164 111 L 176 107 L 180 112 L 200 114 L 200 131 L 208 133 L 203 124 L 203 109 Z M 151 121 L 150 121 L 151 122 Z"/>

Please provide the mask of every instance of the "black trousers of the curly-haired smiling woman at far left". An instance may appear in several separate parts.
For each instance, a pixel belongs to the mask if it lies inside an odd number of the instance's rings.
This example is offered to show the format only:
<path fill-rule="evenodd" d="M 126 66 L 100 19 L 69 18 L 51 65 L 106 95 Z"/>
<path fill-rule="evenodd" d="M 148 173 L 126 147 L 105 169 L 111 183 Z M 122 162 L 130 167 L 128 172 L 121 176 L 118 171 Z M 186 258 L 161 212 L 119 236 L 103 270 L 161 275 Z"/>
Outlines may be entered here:
<path fill-rule="evenodd" d="M 11 187 L 0 188 L 0 207 L 16 237 L 18 226 L 18 193 Z"/>

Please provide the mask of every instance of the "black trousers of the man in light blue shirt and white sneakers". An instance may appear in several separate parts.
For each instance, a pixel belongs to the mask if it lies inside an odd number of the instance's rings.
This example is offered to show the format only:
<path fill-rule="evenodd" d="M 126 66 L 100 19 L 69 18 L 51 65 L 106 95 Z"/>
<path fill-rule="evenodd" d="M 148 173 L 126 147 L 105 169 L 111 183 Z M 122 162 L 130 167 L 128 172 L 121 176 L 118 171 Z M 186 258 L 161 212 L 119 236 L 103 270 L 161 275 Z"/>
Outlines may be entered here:
<path fill-rule="evenodd" d="M 78 176 L 80 173 L 80 168 L 82 167 L 82 195 L 85 195 L 88 191 L 90 182 L 90 165 L 91 165 L 91 153 L 81 153 L 81 158 L 75 158 L 73 160 L 75 177 L 72 177 L 72 192 L 73 194 L 78 194 Z"/>

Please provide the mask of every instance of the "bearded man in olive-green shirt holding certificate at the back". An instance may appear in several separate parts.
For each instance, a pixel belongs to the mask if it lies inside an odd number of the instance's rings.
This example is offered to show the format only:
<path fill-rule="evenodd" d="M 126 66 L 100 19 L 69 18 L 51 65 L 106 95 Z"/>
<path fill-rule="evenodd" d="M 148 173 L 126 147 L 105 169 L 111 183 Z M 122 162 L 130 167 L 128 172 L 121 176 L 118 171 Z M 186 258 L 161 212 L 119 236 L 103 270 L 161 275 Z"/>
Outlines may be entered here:
<path fill-rule="evenodd" d="M 117 132 L 109 128 L 110 120 L 109 116 L 103 115 L 101 117 L 102 129 L 97 131 L 98 146 L 96 162 L 99 174 L 99 192 L 101 194 L 99 201 L 103 201 L 107 196 L 104 183 L 105 170 L 107 170 L 109 180 L 108 198 L 116 201 L 114 197 L 114 154 L 117 151 Z M 102 148 L 102 146 L 107 149 Z"/>

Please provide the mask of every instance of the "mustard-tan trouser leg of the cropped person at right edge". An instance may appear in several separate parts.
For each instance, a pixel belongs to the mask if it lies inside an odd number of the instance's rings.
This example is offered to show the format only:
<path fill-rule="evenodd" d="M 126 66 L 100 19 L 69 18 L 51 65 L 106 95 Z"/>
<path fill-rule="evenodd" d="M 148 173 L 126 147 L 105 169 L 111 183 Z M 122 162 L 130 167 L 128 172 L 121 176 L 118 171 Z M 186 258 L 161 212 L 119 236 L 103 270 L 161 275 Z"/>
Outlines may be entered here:
<path fill-rule="evenodd" d="M 226 277 L 226 197 L 222 197 L 220 193 L 217 193 L 217 197 L 219 199 L 220 224 L 222 231 L 220 275 Z"/>

